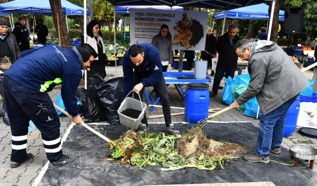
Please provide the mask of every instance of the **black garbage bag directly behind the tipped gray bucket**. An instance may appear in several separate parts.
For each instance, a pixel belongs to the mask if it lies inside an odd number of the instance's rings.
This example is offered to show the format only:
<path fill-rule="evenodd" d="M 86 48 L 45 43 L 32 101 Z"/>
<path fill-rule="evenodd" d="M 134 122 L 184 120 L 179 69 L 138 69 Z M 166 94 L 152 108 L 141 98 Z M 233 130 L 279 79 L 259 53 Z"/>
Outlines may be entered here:
<path fill-rule="evenodd" d="M 117 113 L 124 99 L 123 77 L 116 77 L 104 82 L 97 91 L 98 97 L 106 108 L 106 119 L 108 124 L 120 124 Z"/>

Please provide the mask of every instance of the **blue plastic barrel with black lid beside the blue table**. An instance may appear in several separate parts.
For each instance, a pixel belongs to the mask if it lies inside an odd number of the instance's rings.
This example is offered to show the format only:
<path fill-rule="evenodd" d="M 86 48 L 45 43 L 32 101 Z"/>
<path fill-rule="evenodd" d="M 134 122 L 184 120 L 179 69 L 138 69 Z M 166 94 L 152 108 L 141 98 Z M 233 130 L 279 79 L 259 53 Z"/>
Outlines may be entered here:
<path fill-rule="evenodd" d="M 196 124 L 208 117 L 209 85 L 207 83 L 188 83 L 185 100 L 185 119 Z"/>

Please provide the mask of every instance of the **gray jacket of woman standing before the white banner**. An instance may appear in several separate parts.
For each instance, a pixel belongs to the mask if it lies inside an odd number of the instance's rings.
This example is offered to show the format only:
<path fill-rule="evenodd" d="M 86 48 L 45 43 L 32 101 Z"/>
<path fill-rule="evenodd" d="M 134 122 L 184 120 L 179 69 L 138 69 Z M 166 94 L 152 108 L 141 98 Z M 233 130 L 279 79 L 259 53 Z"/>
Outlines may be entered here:
<path fill-rule="evenodd" d="M 172 38 L 170 36 L 155 35 L 151 44 L 159 50 L 161 62 L 168 61 L 169 64 L 173 63 Z"/>

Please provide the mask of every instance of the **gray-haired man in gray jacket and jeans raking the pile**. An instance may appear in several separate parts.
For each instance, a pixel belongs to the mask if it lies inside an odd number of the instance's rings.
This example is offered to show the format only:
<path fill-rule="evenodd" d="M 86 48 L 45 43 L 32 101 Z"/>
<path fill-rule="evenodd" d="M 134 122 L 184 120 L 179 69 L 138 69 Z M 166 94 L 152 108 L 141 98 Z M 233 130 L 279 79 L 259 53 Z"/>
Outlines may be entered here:
<path fill-rule="evenodd" d="M 269 163 L 269 153 L 281 153 L 287 110 L 309 82 L 276 43 L 241 40 L 234 50 L 240 58 L 249 61 L 251 79 L 247 90 L 230 107 L 238 108 L 257 97 L 263 114 L 257 151 L 246 154 L 244 159 L 253 163 Z"/>

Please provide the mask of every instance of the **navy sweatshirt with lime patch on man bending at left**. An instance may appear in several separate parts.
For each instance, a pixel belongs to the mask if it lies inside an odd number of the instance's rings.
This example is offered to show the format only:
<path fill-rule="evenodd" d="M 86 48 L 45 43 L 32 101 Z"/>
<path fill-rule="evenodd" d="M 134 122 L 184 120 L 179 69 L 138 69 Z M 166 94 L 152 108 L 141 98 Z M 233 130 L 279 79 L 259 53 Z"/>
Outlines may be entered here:
<path fill-rule="evenodd" d="M 39 92 L 49 92 L 62 83 L 61 97 L 68 113 L 78 116 L 76 89 L 82 78 L 83 60 L 77 50 L 68 50 L 55 44 L 20 54 L 4 75 Z"/>

